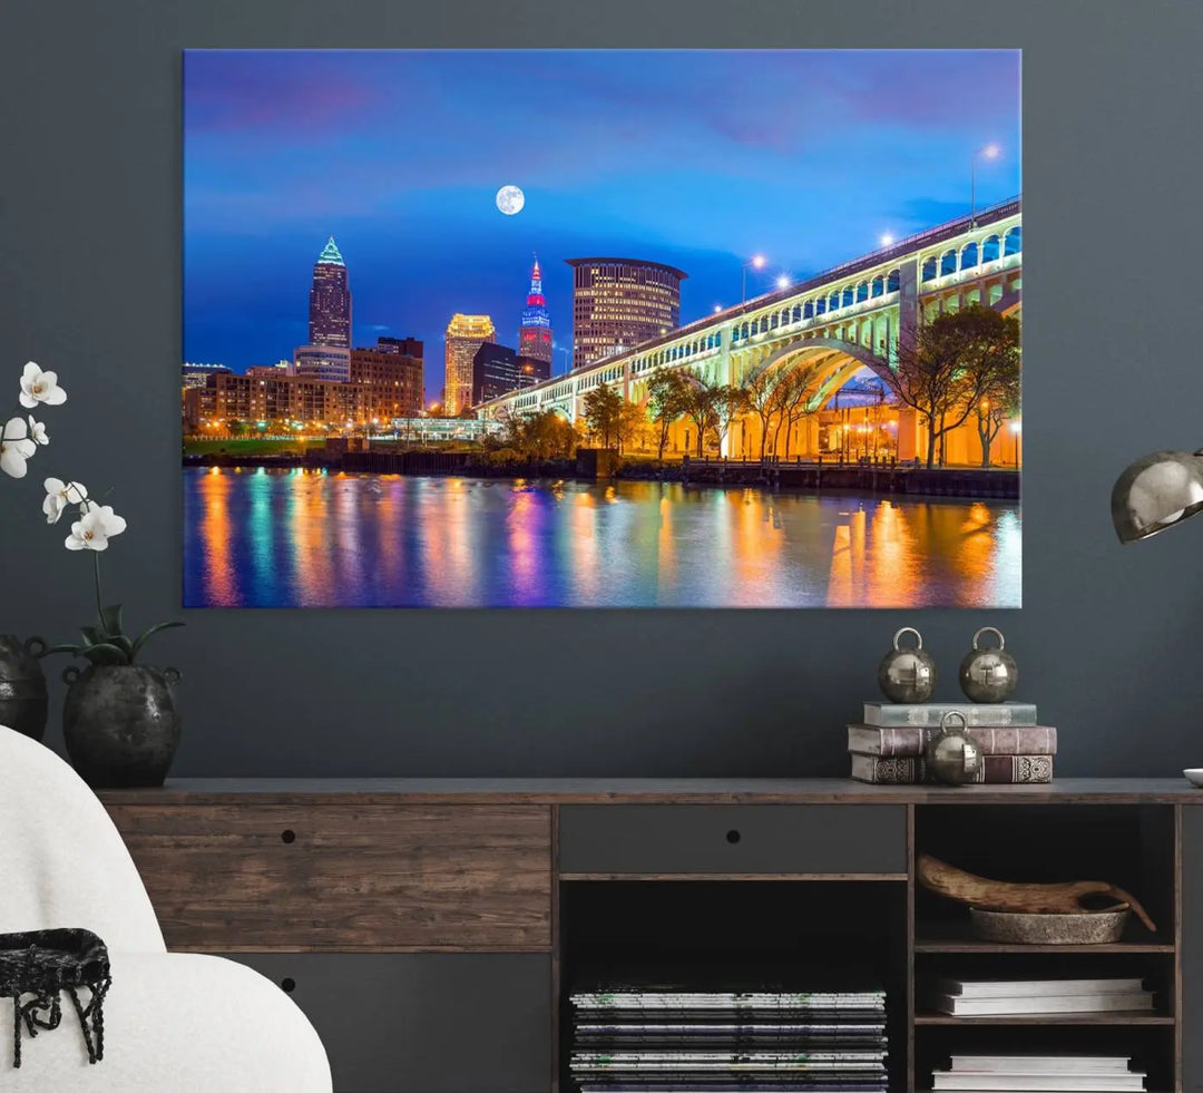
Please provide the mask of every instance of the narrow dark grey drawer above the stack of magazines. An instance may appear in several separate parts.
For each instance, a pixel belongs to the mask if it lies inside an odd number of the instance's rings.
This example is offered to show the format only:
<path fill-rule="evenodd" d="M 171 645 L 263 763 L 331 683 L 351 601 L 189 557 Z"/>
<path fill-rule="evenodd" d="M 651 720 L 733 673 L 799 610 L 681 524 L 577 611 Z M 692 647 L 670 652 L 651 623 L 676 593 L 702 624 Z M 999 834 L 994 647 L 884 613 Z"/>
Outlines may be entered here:
<path fill-rule="evenodd" d="M 905 875 L 903 805 L 564 805 L 562 874 Z"/>

